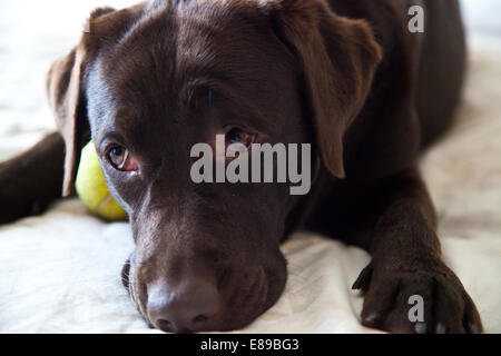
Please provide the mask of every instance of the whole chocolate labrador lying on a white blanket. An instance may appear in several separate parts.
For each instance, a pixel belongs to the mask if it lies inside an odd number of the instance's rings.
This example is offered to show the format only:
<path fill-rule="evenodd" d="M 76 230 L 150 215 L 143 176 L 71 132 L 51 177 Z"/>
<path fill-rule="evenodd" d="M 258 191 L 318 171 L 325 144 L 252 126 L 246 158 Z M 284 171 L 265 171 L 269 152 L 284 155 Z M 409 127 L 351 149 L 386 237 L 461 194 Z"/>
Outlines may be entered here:
<path fill-rule="evenodd" d="M 424 10 L 424 33 L 409 8 Z M 242 328 L 278 299 L 279 244 L 305 229 L 365 248 L 362 323 L 480 333 L 441 258 L 418 157 L 453 119 L 465 46 L 455 0 L 159 0 L 90 16 L 48 75 L 58 132 L 0 166 L 0 219 L 72 194 L 92 139 L 136 249 L 126 285 L 166 332 Z M 313 149 L 313 187 L 195 184 L 190 148 L 217 134 Z M 62 188 L 61 188 L 62 187 Z M 421 296 L 423 318 L 409 318 Z"/>

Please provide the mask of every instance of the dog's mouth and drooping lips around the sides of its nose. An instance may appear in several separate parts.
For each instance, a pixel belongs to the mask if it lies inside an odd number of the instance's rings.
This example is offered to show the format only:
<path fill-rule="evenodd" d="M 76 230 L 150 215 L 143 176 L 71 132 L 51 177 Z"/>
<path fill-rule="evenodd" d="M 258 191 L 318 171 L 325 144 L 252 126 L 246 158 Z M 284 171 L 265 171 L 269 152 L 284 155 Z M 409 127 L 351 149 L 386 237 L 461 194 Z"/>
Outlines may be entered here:
<path fill-rule="evenodd" d="M 121 280 L 150 328 L 167 333 L 228 332 L 247 326 L 279 298 L 285 287 L 285 277 L 282 283 L 269 283 L 268 275 L 265 268 L 238 275 L 226 274 L 217 284 L 222 295 L 218 312 L 210 317 L 200 314 L 189 326 L 179 326 L 166 318 L 153 317 L 153 310 L 148 308 L 148 288 L 140 281 L 130 260 L 124 265 Z"/>

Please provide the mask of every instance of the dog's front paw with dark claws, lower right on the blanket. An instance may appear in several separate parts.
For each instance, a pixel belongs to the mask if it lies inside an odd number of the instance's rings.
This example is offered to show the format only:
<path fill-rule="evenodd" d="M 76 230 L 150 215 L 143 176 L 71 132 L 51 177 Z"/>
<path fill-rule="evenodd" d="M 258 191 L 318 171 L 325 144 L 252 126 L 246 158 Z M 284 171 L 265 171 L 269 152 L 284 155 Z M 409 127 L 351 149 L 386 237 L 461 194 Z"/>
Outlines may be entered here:
<path fill-rule="evenodd" d="M 443 263 L 412 268 L 372 263 L 353 289 L 365 295 L 362 324 L 391 333 L 481 333 L 480 315 L 461 281 Z"/>

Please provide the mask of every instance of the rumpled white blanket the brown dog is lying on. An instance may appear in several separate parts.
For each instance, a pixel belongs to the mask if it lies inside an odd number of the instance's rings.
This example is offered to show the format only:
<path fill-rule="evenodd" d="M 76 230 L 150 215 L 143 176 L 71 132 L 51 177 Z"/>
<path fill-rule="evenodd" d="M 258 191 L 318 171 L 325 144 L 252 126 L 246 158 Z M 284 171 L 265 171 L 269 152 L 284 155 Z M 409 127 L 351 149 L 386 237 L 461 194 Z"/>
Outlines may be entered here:
<path fill-rule="evenodd" d="M 45 72 L 76 43 L 96 4 L 102 1 L 0 2 L 0 160 L 53 129 Z M 500 55 L 499 42 L 475 42 L 459 122 L 422 162 L 444 258 L 475 300 L 488 333 L 501 333 Z M 131 249 L 128 224 L 104 224 L 75 199 L 1 226 L 0 333 L 157 333 L 120 283 Z M 283 251 L 289 270 L 285 294 L 242 332 L 375 332 L 360 325 L 363 299 L 350 290 L 369 255 L 313 235 L 295 236 Z"/>

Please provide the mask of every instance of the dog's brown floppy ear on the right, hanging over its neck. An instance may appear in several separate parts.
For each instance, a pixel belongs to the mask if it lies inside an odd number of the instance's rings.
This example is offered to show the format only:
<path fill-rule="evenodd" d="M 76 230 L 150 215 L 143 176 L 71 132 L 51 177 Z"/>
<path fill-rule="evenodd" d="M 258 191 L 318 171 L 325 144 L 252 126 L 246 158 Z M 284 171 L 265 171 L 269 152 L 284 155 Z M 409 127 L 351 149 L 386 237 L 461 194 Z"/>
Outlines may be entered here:
<path fill-rule="evenodd" d="M 365 21 L 338 17 L 325 2 L 269 0 L 265 9 L 299 60 L 322 160 L 344 178 L 343 134 L 364 105 L 382 50 Z"/>

